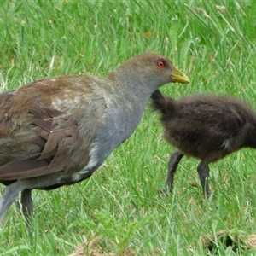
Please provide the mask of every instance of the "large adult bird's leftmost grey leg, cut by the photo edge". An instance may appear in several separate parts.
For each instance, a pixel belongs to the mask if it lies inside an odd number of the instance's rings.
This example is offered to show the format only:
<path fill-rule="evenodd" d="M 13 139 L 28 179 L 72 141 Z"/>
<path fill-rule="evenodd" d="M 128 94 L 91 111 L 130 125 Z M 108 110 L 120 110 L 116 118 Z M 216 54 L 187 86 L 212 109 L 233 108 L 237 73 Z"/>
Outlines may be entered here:
<path fill-rule="evenodd" d="M 0 223 L 3 221 L 3 218 L 10 205 L 18 197 L 20 191 L 23 191 L 24 189 L 24 186 L 20 183 L 11 183 L 4 189 L 3 196 L 0 201 Z"/>

